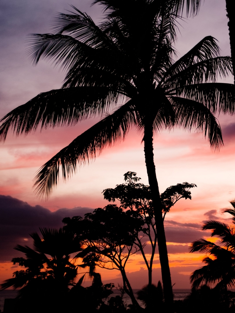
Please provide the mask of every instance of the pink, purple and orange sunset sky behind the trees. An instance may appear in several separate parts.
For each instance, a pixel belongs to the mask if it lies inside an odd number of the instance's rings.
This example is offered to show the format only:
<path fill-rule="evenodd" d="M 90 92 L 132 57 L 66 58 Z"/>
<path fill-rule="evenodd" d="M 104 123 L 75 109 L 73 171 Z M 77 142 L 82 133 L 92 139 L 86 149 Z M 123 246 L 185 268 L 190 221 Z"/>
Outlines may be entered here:
<path fill-rule="evenodd" d="M 71 0 L 70 4 L 99 23 L 102 17 L 99 6 L 90 7 L 91 2 L 86 0 Z M 65 72 L 44 61 L 36 67 L 29 62 L 27 34 L 52 32 L 51 19 L 55 13 L 70 9 L 64 0 L 1 1 L 0 117 L 40 92 L 61 87 Z M 181 21 L 179 29 L 176 43 L 179 57 L 208 35 L 219 41 L 222 56 L 230 55 L 225 0 L 205 0 L 204 4 L 202 1 L 198 16 Z M 232 83 L 233 78 L 226 82 Z M 17 256 L 13 247 L 30 241 L 29 232 L 37 231 L 39 226 L 59 227 L 65 216 L 84 214 L 91 211 L 90 208 L 105 206 L 103 189 L 122 183 L 127 171 L 137 172 L 142 182 L 148 184 L 142 137 L 132 130 L 124 142 L 105 149 L 94 162 L 81 167 L 66 184 L 60 179 L 47 201 L 36 197 L 32 180 L 39 167 L 99 120 L 100 117 L 73 127 L 37 131 L 26 137 L 16 138 L 9 133 L 6 142 L 0 146 L 0 195 L 18 199 L 0 197 L 0 248 L 3 249 L 0 280 L 11 277 L 15 268 L 10 260 Z M 209 238 L 210 233 L 201 231 L 203 221 L 215 218 L 229 221 L 227 213 L 222 211 L 235 198 L 235 121 L 234 117 L 222 115 L 218 120 L 224 139 L 224 147 L 219 153 L 210 150 L 209 143 L 200 133 L 189 134 L 175 129 L 170 133 L 164 131 L 154 139 L 160 192 L 176 183 L 197 185 L 192 190 L 192 200 L 179 201 L 165 219 L 175 288 L 190 288 L 189 275 L 201 266 L 203 255 L 189 254 L 188 245 L 193 240 Z M 59 210 L 61 208 L 64 210 Z M 134 288 L 141 288 L 147 282 L 143 259 L 136 254 L 131 261 L 127 266 L 130 281 Z M 157 255 L 153 276 L 155 282 L 160 279 Z M 119 282 L 119 274 L 102 270 L 102 279 Z"/>

